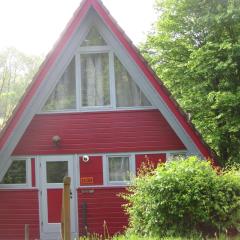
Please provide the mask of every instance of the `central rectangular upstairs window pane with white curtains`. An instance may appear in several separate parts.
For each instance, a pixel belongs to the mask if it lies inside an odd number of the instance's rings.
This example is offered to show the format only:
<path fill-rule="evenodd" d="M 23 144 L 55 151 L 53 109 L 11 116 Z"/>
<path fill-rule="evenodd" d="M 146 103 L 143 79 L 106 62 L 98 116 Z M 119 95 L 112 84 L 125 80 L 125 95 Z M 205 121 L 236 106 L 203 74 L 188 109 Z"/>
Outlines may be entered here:
<path fill-rule="evenodd" d="M 82 106 L 110 105 L 107 53 L 81 55 Z"/>

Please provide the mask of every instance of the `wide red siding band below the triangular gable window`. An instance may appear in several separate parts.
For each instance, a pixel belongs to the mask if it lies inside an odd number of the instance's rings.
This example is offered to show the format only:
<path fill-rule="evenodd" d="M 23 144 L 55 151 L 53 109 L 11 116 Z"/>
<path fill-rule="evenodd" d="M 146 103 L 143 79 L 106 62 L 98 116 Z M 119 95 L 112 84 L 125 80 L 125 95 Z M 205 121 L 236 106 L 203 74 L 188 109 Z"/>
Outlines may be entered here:
<path fill-rule="evenodd" d="M 61 143 L 54 147 L 52 137 Z M 14 155 L 185 149 L 158 110 L 36 115 Z"/>

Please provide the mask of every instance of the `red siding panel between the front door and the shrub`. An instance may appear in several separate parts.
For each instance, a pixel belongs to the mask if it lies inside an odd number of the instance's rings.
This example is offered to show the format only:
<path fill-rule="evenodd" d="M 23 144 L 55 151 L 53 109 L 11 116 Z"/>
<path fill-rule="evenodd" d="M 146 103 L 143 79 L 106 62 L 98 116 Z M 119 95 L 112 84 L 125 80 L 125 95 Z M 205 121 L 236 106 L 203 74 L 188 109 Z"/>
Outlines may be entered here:
<path fill-rule="evenodd" d="M 90 192 L 88 192 L 90 191 Z M 93 192 L 92 192 L 93 191 Z M 86 202 L 86 223 L 90 233 L 103 234 L 106 221 L 111 235 L 122 232 L 128 224 L 128 217 L 121 205 L 124 200 L 117 196 L 124 188 L 89 188 L 78 189 L 79 232 L 84 233 L 83 202 Z"/>

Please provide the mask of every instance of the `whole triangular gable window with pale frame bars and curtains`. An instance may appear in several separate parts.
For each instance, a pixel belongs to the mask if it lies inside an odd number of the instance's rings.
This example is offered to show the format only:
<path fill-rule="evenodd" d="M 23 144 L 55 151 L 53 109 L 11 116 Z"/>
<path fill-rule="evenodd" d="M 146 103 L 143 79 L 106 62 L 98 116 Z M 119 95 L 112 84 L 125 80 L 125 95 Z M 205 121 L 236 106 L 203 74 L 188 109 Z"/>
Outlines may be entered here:
<path fill-rule="evenodd" d="M 149 106 L 150 102 L 111 47 L 92 27 L 43 111 Z"/>

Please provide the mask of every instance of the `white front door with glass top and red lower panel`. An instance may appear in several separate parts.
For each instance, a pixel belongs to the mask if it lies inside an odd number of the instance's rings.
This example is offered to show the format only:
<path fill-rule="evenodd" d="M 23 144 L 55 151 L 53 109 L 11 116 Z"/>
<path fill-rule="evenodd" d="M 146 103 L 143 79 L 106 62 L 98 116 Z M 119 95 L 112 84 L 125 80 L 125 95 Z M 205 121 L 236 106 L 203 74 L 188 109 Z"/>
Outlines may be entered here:
<path fill-rule="evenodd" d="M 61 209 L 63 178 L 71 177 L 71 232 L 77 235 L 76 187 L 74 178 L 74 156 L 41 156 L 41 240 L 58 240 L 61 232 Z"/>

